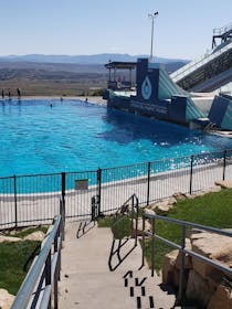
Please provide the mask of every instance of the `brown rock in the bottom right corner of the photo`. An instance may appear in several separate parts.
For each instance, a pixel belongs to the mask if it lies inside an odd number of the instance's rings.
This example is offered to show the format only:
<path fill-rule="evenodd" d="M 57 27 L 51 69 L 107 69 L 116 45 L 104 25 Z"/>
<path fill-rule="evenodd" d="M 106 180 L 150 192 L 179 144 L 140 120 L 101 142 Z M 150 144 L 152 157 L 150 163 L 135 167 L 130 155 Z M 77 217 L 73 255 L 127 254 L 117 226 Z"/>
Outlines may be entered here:
<path fill-rule="evenodd" d="M 232 292 L 231 289 L 220 285 L 212 296 L 208 309 L 231 309 L 232 308 Z"/>

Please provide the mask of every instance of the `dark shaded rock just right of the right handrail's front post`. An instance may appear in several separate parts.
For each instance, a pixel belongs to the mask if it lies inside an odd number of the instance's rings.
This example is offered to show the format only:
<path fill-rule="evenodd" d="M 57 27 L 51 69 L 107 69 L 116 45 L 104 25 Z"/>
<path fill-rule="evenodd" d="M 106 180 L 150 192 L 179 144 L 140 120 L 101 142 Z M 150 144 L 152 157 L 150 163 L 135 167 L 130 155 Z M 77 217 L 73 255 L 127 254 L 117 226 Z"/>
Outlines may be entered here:
<path fill-rule="evenodd" d="M 193 269 L 189 271 L 186 290 L 188 300 L 196 305 L 198 303 L 200 308 L 207 308 L 214 291 L 215 288 L 210 285 L 208 280 L 203 279 L 197 271 Z"/>

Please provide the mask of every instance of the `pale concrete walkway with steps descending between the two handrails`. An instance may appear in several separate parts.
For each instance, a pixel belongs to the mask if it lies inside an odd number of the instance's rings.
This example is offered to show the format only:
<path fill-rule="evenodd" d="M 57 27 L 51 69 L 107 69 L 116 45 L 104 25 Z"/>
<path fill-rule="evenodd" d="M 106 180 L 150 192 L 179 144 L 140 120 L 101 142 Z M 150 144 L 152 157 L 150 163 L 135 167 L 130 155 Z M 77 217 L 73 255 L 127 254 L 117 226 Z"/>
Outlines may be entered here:
<path fill-rule="evenodd" d="M 114 271 L 109 271 L 110 230 L 89 225 L 93 228 L 77 238 L 78 224 L 66 225 L 59 283 L 61 309 L 173 307 L 175 297 L 160 289 L 160 279 L 151 278 L 148 267 L 138 270 L 141 264 L 140 245 L 133 249 L 134 241 L 127 242 L 120 251 L 120 257 L 130 249 L 131 253 Z M 117 264 L 118 257 L 115 256 L 112 265 Z"/>

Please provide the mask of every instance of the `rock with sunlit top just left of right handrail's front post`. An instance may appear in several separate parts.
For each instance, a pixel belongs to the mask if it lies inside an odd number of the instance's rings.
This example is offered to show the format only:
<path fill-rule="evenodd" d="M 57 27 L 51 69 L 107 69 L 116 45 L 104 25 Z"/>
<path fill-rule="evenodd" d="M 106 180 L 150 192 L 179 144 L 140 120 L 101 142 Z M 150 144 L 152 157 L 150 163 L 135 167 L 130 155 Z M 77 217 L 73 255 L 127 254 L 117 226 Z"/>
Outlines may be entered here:
<path fill-rule="evenodd" d="M 175 264 L 179 251 L 172 251 L 165 255 L 162 259 L 162 284 L 175 284 Z"/>

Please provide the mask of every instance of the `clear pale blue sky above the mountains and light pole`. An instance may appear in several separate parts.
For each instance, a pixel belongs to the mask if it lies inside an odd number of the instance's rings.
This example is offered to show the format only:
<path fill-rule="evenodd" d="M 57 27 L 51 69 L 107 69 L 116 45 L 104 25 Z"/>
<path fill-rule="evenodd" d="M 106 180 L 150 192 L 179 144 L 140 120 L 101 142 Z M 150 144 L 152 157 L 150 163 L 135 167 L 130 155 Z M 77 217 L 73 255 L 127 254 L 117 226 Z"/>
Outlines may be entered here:
<path fill-rule="evenodd" d="M 0 0 L 0 55 L 149 54 L 194 58 L 212 29 L 232 23 L 232 0 Z"/>

